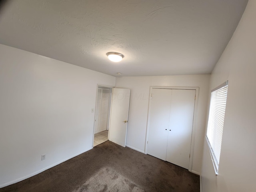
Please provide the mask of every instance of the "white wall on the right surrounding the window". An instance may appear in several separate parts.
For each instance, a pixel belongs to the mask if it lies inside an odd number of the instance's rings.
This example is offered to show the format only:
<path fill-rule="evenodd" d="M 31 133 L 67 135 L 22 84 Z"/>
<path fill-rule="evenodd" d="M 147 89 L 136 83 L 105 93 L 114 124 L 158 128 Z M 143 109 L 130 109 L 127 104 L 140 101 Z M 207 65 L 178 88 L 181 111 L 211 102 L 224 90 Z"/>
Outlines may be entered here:
<path fill-rule="evenodd" d="M 256 1 L 249 0 L 211 75 L 210 90 L 228 80 L 219 175 L 206 141 L 202 192 L 256 191 Z"/>

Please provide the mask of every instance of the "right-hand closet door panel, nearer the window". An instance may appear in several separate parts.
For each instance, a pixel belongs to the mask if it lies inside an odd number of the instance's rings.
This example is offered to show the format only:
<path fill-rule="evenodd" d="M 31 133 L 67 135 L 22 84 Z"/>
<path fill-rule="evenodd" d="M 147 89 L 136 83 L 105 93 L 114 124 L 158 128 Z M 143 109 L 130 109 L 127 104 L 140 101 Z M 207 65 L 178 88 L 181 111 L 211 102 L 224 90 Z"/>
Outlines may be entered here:
<path fill-rule="evenodd" d="M 188 169 L 196 90 L 172 90 L 166 161 Z"/>

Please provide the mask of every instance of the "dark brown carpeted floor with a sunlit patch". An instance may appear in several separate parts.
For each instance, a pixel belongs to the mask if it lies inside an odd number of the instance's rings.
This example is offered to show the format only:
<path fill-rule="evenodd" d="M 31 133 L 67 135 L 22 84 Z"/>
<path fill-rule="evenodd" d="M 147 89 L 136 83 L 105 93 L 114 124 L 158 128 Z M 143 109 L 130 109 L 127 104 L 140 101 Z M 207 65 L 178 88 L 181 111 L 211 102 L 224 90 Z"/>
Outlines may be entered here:
<path fill-rule="evenodd" d="M 106 141 L 0 192 L 199 192 L 199 176 Z"/>

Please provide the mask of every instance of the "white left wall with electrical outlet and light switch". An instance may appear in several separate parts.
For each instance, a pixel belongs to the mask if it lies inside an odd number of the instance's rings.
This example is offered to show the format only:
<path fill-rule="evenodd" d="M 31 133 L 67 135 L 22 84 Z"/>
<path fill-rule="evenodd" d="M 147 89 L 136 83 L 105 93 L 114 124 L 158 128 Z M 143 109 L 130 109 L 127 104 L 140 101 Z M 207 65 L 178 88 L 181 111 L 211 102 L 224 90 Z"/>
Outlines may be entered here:
<path fill-rule="evenodd" d="M 97 84 L 115 77 L 0 45 L 0 187 L 92 148 Z"/>

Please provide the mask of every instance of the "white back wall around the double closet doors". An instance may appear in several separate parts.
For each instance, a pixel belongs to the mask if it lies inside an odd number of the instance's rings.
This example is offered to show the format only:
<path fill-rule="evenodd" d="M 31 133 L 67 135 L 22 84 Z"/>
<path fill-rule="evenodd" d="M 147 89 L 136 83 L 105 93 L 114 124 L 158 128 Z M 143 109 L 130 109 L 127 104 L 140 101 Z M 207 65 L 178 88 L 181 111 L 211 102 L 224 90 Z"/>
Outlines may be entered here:
<path fill-rule="evenodd" d="M 208 102 L 209 80 L 210 75 L 116 78 L 116 87 L 131 89 L 126 145 L 140 152 L 144 152 L 145 150 L 150 86 L 199 87 L 198 112 L 196 114 L 196 128 L 194 128 L 195 146 L 192 170 L 200 173 L 207 113 L 206 106 Z"/>

